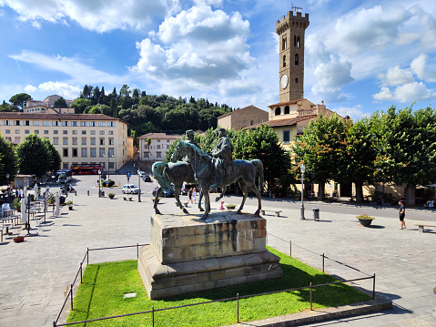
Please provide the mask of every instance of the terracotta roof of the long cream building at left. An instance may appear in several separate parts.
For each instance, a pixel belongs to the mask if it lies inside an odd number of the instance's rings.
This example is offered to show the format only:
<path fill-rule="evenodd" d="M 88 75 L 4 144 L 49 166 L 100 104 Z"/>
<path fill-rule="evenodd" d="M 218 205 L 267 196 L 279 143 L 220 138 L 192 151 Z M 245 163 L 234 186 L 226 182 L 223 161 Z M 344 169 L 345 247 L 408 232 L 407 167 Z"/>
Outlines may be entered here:
<path fill-rule="evenodd" d="M 31 114 L 27 112 L 0 112 L 0 119 L 28 119 L 28 120 L 123 120 L 103 114 Z M 127 123 L 126 123 L 127 124 Z"/>

